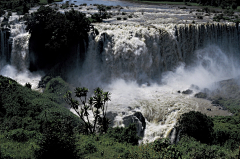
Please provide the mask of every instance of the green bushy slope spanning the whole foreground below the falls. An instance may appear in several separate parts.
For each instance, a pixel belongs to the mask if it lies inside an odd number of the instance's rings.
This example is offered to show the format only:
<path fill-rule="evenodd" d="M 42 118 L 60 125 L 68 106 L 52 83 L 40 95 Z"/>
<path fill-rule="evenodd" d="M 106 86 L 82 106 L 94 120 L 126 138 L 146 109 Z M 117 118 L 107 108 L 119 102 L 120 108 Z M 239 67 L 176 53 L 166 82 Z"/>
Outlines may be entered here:
<path fill-rule="evenodd" d="M 136 126 L 110 128 L 86 135 L 84 122 L 62 103 L 70 89 L 60 77 L 47 83 L 43 93 L 0 76 L 0 158 L 236 158 L 240 115 L 207 117 L 183 114 L 180 141 L 169 139 L 138 145 Z M 61 104 L 60 104 L 61 103 Z M 207 123 L 209 122 L 209 123 Z M 206 124 L 206 128 L 197 124 Z M 207 129 L 206 139 L 196 132 Z M 194 130 L 194 131 L 192 131 Z M 193 134 L 195 133 L 195 134 Z"/>

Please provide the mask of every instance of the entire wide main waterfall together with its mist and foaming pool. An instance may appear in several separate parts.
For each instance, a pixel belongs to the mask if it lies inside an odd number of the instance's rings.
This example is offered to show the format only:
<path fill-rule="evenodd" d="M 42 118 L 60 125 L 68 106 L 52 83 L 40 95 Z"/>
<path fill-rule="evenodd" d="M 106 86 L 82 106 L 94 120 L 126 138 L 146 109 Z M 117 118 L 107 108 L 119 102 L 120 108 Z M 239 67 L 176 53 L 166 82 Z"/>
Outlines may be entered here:
<path fill-rule="evenodd" d="M 173 128 L 183 113 L 230 114 L 178 91 L 214 89 L 214 82 L 240 74 L 235 25 L 97 24 L 95 28 L 100 34 L 90 34 L 80 83 L 90 88 L 101 85 L 112 93 L 108 111 L 117 114 L 114 126 L 123 126 L 127 116 L 141 112 L 146 119 L 144 143 L 170 135 L 175 141 Z"/>

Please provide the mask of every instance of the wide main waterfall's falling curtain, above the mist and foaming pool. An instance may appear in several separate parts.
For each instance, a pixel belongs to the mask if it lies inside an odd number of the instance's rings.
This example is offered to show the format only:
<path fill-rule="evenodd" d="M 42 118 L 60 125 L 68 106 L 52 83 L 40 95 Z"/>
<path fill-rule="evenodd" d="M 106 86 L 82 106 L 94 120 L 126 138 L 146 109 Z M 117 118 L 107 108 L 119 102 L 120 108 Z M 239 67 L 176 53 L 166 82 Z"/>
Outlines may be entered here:
<path fill-rule="evenodd" d="M 240 53 L 240 32 L 232 24 L 97 24 L 95 28 L 100 34 L 89 36 L 87 58 L 92 62 L 86 59 L 83 70 L 94 70 L 97 64 L 104 80 L 159 83 L 163 72 L 173 71 L 181 63 L 191 66 L 197 59 L 196 50 L 210 45 L 231 59 Z"/>

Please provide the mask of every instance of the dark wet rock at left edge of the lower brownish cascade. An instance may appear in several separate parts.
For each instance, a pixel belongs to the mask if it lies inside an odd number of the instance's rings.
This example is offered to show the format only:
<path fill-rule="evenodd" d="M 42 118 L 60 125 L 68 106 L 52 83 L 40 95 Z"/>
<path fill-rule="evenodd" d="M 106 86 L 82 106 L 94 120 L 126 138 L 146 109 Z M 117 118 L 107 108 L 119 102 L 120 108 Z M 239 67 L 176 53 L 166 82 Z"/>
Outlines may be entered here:
<path fill-rule="evenodd" d="M 137 135 L 143 137 L 144 130 L 146 128 L 146 121 L 141 112 L 136 112 L 133 115 L 129 115 L 123 118 L 123 124 L 128 127 L 130 124 L 134 123 L 137 128 Z"/>

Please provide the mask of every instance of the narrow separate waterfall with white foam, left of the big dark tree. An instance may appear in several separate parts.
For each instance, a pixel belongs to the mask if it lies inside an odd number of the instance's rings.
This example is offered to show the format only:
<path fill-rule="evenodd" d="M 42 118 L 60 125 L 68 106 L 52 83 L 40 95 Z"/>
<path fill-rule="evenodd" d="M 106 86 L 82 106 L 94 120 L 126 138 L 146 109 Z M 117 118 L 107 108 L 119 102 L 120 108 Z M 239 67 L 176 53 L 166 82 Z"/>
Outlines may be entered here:
<path fill-rule="evenodd" d="M 16 20 L 15 20 L 16 21 Z M 39 74 L 32 74 L 28 71 L 29 67 L 29 38 L 30 34 L 25 31 L 25 25 L 23 23 L 17 23 L 11 25 L 10 37 L 8 41 L 6 37 L 2 37 L 1 34 L 1 65 L 0 74 L 15 79 L 22 85 L 31 83 L 33 89 L 37 89 L 38 82 L 41 79 Z M 4 43 L 3 43 L 4 42 Z M 11 46 L 8 46 L 11 45 Z M 6 54 L 4 49 L 11 47 L 11 52 L 7 53 L 8 57 L 4 57 Z M 9 48 L 5 50 L 10 50 Z"/>

